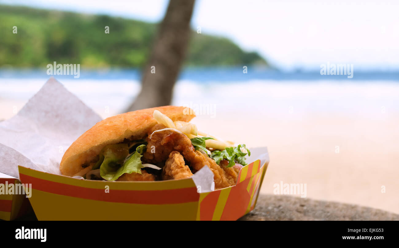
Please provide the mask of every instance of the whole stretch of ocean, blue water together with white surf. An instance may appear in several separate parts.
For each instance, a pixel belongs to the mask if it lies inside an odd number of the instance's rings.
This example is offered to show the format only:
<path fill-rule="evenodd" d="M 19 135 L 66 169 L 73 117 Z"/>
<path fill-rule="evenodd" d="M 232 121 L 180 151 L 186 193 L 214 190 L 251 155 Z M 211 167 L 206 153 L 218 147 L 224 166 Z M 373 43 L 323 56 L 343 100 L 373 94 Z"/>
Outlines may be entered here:
<path fill-rule="evenodd" d="M 49 77 L 43 70 L 0 70 L 2 108 L 9 108 L 7 102 L 26 102 Z M 123 112 L 140 92 L 140 73 L 135 70 L 81 70 L 78 79 L 55 78 L 103 117 Z M 399 73 L 355 71 L 348 79 L 318 72 L 186 69 L 174 87 L 172 104 L 190 106 L 210 118 L 339 114 L 378 119 L 399 114 Z"/>

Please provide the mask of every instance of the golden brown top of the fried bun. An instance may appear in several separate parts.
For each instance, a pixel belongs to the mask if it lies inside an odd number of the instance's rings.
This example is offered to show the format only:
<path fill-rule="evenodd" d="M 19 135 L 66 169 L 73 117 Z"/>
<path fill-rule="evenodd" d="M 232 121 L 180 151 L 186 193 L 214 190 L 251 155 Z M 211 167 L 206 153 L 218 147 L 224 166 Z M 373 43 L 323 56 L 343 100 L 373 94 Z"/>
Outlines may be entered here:
<path fill-rule="evenodd" d="M 159 110 L 173 121 L 189 122 L 195 117 L 192 110 L 186 107 L 162 106 L 147 108 L 111 116 L 95 124 L 82 134 L 68 148 L 61 159 L 59 169 L 63 175 L 73 176 L 81 171 L 85 163 L 95 162 L 104 146 L 117 144 L 125 138 L 141 139 L 148 130 L 157 124 L 152 114 Z M 188 111 L 190 110 L 190 111 Z"/>

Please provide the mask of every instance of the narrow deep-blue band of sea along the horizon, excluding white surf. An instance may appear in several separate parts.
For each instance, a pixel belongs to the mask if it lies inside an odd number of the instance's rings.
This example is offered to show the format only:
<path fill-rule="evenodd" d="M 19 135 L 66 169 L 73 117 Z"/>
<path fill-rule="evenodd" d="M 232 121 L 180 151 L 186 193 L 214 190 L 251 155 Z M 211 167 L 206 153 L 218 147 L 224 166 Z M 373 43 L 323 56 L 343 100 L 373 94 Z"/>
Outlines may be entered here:
<path fill-rule="evenodd" d="M 0 69 L 0 79 L 5 78 L 48 78 L 47 69 Z M 56 75 L 58 79 L 73 79 L 73 75 Z M 84 69 L 81 68 L 79 79 L 115 80 L 130 79 L 138 81 L 141 78 L 138 69 Z M 243 73 L 241 67 L 194 67 L 184 69 L 179 80 L 199 81 L 201 83 L 237 82 L 248 80 L 277 80 L 277 81 L 342 81 L 348 79 L 347 75 L 320 75 L 320 71 L 279 71 L 265 69 L 264 67 L 249 67 Z M 351 81 L 397 81 L 399 71 L 354 71 Z"/>

